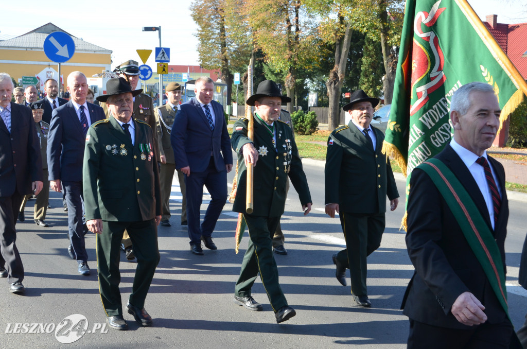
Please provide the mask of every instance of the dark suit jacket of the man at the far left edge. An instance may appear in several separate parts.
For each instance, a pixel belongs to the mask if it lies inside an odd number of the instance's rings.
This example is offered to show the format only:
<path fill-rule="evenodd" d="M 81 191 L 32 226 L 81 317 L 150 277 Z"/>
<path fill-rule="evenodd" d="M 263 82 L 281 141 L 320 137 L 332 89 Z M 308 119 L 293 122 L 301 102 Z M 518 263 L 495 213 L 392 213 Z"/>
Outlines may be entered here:
<path fill-rule="evenodd" d="M 11 133 L 0 118 L 0 196 L 31 193 L 42 181 L 42 157 L 31 109 L 11 102 Z"/>

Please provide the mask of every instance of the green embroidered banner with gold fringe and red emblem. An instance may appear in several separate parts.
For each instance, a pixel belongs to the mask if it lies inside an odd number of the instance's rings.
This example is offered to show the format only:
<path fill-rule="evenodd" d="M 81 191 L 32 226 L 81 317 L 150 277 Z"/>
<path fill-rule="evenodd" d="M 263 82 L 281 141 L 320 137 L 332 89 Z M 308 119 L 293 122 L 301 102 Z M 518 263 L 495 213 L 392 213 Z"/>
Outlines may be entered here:
<path fill-rule="evenodd" d="M 466 0 L 407 0 L 383 144 L 407 183 L 419 163 L 450 141 L 451 96 L 473 81 L 494 86 L 502 123 L 527 94 L 525 80 Z"/>

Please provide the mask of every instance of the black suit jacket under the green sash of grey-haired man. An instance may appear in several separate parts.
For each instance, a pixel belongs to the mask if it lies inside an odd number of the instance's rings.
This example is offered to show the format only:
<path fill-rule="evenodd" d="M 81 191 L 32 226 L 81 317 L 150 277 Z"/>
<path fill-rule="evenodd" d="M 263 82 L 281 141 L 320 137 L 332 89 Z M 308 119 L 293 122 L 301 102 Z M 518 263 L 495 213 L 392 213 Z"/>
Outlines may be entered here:
<path fill-rule="evenodd" d="M 447 145 L 437 154 L 454 172 L 469 192 L 477 209 L 492 231 L 489 211 L 483 195 L 469 169 Z M 494 229 L 494 238 L 505 266 L 505 236 L 509 218 L 509 203 L 505 191 L 503 166 L 489 157 L 502 192 L 500 214 Z M 459 323 L 450 309 L 463 292 L 471 292 L 485 306 L 489 323 L 505 320 L 506 314 L 494 294 L 476 256 L 467 243 L 463 231 L 436 186 L 421 169 L 414 169 L 410 179 L 407 205 L 406 246 L 415 267 L 403 299 L 403 313 L 409 318 L 429 325 L 470 329 Z"/>

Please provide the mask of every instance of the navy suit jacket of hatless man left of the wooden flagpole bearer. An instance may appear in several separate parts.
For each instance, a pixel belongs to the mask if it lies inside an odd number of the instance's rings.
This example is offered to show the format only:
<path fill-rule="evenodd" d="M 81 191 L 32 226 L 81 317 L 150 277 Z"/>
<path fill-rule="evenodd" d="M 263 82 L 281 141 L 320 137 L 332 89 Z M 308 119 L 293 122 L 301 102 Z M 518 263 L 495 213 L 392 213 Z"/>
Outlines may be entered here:
<path fill-rule="evenodd" d="M 210 102 L 210 105 L 216 116 L 213 131 L 196 98 L 181 104 L 175 114 L 170 141 L 178 170 L 190 166 L 190 172 L 203 172 L 209 166 L 211 154 L 218 172 L 224 171 L 226 164 L 232 164 L 230 137 L 223 117 L 223 107 L 216 101 Z"/>

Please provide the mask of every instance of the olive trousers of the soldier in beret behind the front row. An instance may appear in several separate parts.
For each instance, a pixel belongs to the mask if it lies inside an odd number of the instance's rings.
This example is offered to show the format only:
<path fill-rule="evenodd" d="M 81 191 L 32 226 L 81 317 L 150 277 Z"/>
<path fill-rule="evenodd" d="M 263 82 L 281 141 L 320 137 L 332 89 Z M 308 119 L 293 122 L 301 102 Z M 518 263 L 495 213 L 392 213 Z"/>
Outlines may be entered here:
<path fill-rule="evenodd" d="M 159 170 L 159 185 L 161 186 L 161 220 L 170 219 L 170 192 L 172 191 L 172 180 L 174 179 L 175 164 L 162 163 Z M 187 221 L 187 188 L 185 187 L 185 175 L 178 171 L 179 188 L 183 200 L 181 203 L 181 222 Z"/>

